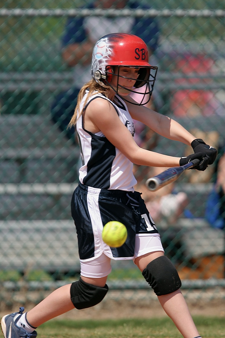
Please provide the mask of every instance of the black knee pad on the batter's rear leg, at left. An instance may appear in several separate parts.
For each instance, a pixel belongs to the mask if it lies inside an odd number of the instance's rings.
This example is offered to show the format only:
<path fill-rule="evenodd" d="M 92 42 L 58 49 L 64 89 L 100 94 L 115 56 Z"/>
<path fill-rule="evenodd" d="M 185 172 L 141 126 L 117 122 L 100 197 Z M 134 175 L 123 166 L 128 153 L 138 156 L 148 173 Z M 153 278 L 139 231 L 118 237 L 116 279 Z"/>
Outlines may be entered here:
<path fill-rule="evenodd" d="M 70 297 L 76 309 L 90 308 L 102 301 L 108 291 L 105 284 L 103 288 L 85 283 L 80 278 L 79 281 L 72 283 Z"/>

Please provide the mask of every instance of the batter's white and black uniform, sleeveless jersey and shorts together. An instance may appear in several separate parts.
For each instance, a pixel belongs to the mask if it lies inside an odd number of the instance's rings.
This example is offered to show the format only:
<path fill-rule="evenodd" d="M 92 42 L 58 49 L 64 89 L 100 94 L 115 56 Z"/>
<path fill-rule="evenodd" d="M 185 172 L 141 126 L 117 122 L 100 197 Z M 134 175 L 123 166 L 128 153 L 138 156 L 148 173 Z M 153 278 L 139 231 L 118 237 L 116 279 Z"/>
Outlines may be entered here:
<path fill-rule="evenodd" d="M 96 93 L 89 98 L 86 106 L 97 97 L 107 100 Z M 86 96 L 81 102 L 81 111 L 85 110 L 85 99 Z M 116 104 L 110 103 L 134 135 L 133 121 L 126 104 L 118 96 L 116 100 Z M 133 164 L 102 132 L 93 134 L 85 130 L 82 115 L 77 119 L 77 132 L 83 165 L 79 170 L 79 185 L 72 197 L 71 212 L 76 225 L 80 262 L 91 262 L 103 253 L 114 260 L 127 260 L 152 251 L 163 251 L 157 228 L 141 193 L 134 191 Z M 102 240 L 103 226 L 111 220 L 119 221 L 127 228 L 127 240 L 119 248 L 109 247 Z"/>

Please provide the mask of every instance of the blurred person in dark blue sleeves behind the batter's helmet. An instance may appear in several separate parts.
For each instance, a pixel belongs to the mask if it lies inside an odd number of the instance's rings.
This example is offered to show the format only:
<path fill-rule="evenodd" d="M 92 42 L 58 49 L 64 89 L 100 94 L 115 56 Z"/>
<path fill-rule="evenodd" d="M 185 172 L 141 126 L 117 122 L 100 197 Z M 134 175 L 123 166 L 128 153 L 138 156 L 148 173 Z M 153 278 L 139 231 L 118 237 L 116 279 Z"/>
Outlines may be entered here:
<path fill-rule="evenodd" d="M 148 9 L 137 1 L 128 0 L 102 0 L 87 2 L 84 8 L 95 9 Z M 90 65 L 92 51 L 96 40 L 102 35 L 114 32 L 131 33 L 145 41 L 148 46 L 149 56 L 152 57 L 158 46 L 159 29 L 155 19 L 136 18 L 132 16 L 76 16 L 68 18 L 65 32 L 62 36 L 61 55 L 63 61 L 71 68 L 74 76 L 73 87 L 66 92 L 61 92 L 54 99 L 51 106 L 53 122 L 57 123 L 61 131 L 65 131 L 69 139 L 75 140 L 74 128 L 67 129 L 76 106 L 77 95 L 83 83 L 91 79 Z M 152 61 L 151 61 L 152 63 Z M 155 61 L 154 61 L 155 63 Z M 140 95 L 133 99 L 138 100 Z M 147 104 L 150 107 L 150 103 Z M 151 106 L 152 108 L 152 106 Z M 136 123 L 141 139 L 146 140 L 145 126 Z M 136 133 L 138 135 L 138 133 Z M 138 137 L 138 136 L 136 136 Z"/>

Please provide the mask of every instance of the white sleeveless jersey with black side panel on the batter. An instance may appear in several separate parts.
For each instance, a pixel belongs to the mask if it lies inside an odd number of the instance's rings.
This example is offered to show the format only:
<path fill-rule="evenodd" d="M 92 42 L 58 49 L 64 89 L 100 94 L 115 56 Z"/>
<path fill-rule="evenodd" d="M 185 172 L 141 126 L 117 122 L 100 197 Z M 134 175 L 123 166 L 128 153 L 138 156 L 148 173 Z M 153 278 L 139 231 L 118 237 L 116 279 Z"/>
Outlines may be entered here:
<path fill-rule="evenodd" d="M 131 135 L 134 136 L 133 120 L 125 102 L 118 95 L 115 96 L 117 103 L 114 103 L 103 94 L 96 92 L 96 94 L 88 99 L 84 107 L 86 96 L 87 92 L 81 101 L 80 112 L 83 112 L 92 100 L 101 97 L 115 107 L 120 120 L 128 128 Z M 110 126 L 108 127 L 110 128 Z M 101 131 L 93 134 L 84 129 L 82 114 L 77 119 L 76 129 L 82 158 L 82 166 L 79 169 L 79 181 L 93 188 L 134 191 L 133 187 L 137 181 L 132 171 L 133 163 L 110 143 Z"/>

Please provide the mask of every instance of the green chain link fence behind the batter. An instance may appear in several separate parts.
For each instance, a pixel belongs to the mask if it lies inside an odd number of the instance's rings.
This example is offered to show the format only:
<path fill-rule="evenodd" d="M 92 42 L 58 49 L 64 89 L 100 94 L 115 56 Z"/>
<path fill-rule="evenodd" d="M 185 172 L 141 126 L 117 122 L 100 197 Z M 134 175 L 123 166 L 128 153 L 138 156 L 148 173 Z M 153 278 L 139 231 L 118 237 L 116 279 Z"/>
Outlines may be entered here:
<path fill-rule="evenodd" d="M 219 148 L 219 156 L 205 172 L 189 170 L 158 193 L 145 189 L 154 172 L 135 166 L 138 188 L 183 286 L 225 287 L 225 175 L 214 189 L 225 150 L 224 1 L 153 0 L 151 8 L 144 0 L 125 2 L 124 8 L 102 9 L 88 0 L 6 0 L 0 8 L 0 283 L 8 290 L 21 282 L 46 288 L 79 274 L 70 201 L 80 160 L 66 126 L 76 104 L 75 82 L 84 82 L 85 53 L 76 75 L 72 56 L 64 54 L 74 18 L 71 43 L 80 47 L 89 39 L 83 38 L 87 28 L 103 36 L 115 24 L 127 32 L 151 20 L 142 34 L 144 40 L 152 34 L 150 63 L 158 66 L 152 106 Z M 90 28 L 95 20 L 97 30 Z M 147 149 L 174 156 L 192 152 L 139 125 L 136 131 Z M 132 262 L 113 267 L 111 287 L 148 287 Z"/>

